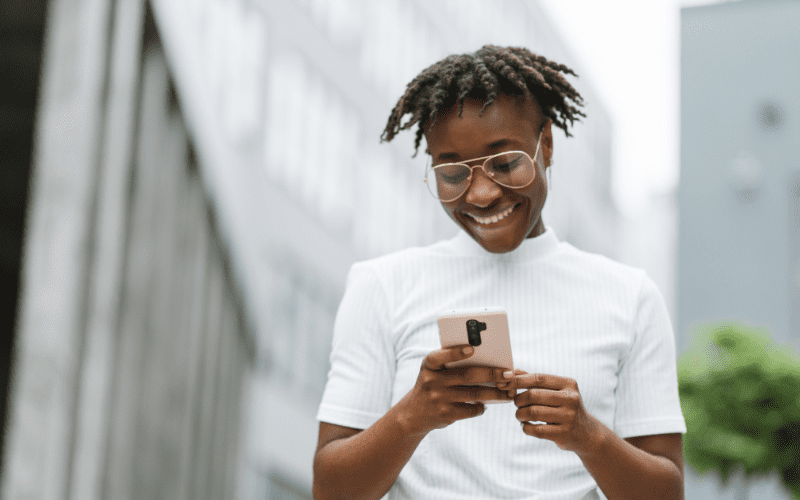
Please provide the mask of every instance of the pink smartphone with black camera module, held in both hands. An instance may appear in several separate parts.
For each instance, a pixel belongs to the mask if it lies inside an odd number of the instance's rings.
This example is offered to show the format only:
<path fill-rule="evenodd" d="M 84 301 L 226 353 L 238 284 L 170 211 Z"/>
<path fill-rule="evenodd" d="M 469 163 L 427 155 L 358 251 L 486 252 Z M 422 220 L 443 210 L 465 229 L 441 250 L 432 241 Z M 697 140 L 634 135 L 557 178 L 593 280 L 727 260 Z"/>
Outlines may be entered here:
<path fill-rule="evenodd" d="M 508 318 L 502 307 L 454 309 L 438 317 L 439 340 L 442 347 L 469 344 L 475 352 L 467 359 L 445 364 L 446 368 L 461 366 L 491 366 L 514 369 L 511 357 L 511 339 L 508 334 Z M 494 382 L 469 385 L 495 387 Z M 507 403 L 508 401 L 484 401 L 485 403 Z"/>

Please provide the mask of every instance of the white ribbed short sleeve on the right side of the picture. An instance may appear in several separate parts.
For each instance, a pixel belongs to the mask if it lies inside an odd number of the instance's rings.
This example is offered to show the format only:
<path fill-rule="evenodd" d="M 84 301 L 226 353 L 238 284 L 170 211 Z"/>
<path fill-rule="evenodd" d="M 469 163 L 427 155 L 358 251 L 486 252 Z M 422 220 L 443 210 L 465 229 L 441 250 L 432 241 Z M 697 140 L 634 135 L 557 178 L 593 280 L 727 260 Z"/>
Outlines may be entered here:
<path fill-rule="evenodd" d="M 685 433 L 678 396 L 675 334 L 664 298 L 642 273 L 633 341 L 620 363 L 614 431 L 622 438 Z"/>

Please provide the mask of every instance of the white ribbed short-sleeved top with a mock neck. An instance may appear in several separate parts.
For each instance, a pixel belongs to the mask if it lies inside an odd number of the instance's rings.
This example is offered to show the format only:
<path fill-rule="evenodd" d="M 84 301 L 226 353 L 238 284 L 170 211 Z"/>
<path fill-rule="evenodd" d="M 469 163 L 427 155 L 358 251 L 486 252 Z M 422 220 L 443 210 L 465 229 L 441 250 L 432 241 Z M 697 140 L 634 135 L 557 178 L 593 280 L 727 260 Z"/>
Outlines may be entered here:
<path fill-rule="evenodd" d="M 353 264 L 334 324 L 317 419 L 366 429 L 441 347 L 437 316 L 504 307 L 514 364 L 571 377 L 620 437 L 686 432 L 675 339 L 647 274 L 560 242 L 551 227 L 505 254 L 449 240 Z M 522 433 L 513 403 L 428 434 L 385 498 L 604 498 L 580 459 Z"/>

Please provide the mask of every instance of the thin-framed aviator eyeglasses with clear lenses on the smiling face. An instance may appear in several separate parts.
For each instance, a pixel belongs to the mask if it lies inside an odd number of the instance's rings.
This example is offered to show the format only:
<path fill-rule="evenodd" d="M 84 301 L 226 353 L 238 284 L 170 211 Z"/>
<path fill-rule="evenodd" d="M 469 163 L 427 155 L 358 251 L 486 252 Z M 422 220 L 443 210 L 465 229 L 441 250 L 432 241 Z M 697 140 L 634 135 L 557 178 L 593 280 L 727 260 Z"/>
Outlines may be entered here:
<path fill-rule="evenodd" d="M 541 142 L 541 132 L 539 133 Z M 536 153 L 539 153 L 539 142 L 536 143 Z M 467 163 L 484 160 L 478 165 L 469 166 Z M 449 202 L 458 199 L 469 189 L 472 183 L 473 170 L 480 167 L 486 175 L 501 186 L 519 189 L 533 182 L 536 169 L 533 158 L 525 151 L 505 151 L 492 156 L 484 156 L 467 160 L 464 163 L 444 163 L 426 169 L 425 183 L 428 190 L 439 201 Z"/>

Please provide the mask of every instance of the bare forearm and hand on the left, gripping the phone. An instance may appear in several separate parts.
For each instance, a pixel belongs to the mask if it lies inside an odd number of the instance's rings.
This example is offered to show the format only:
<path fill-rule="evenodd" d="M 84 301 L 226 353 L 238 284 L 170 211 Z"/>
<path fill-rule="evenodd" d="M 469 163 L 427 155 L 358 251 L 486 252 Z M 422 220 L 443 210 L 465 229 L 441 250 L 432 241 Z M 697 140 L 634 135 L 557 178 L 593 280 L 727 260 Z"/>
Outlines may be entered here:
<path fill-rule="evenodd" d="M 320 424 L 314 457 L 314 498 L 377 500 L 389 491 L 430 431 L 486 411 L 482 403 L 471 401 L 509 401 L 514 391 L 463 385 L 507 381 L 502 369 L 445 368 L 445 363 L 467 359 L 473 352 L 466 345 L 429 353 L 422 360 L 414 387 L 363 431 Z"/>

